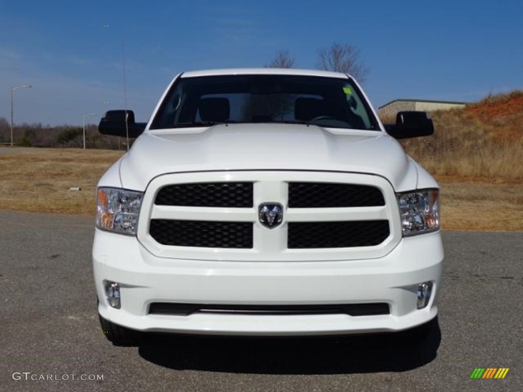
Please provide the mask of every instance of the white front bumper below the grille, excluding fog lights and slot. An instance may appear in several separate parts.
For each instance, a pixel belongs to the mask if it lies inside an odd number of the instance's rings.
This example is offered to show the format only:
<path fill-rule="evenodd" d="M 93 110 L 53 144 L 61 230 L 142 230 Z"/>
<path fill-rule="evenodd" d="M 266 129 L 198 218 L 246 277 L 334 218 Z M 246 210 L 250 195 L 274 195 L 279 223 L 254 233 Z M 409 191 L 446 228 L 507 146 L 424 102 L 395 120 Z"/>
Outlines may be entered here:
<path fill-rule="evenodd" d="M 440 233 L 404 238 L 388 255 L 341 261 L 217 261 L 159 258 L 135 237 L 96 230 L 93 267 L 98 312 L 135 330 L 210 335 L 335 335 L 400 331 L 437 315 L 444 258 Z M 120 286 L 109 306 L 105 282 Z M 433 283 L 416 309 L 417 287 Z M 389 315 L 149 314 L 151 303 L 319 305 L 388 303 Z"/>

